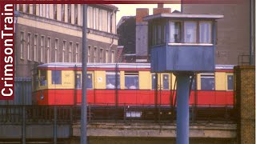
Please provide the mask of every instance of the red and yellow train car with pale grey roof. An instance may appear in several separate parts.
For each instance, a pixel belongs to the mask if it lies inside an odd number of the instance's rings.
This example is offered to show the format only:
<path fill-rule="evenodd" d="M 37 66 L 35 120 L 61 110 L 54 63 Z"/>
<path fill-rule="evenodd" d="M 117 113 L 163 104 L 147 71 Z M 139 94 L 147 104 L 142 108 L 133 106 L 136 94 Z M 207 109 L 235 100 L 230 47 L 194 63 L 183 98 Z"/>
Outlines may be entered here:
<path fill-rule="evenodd" d="M 233 106 L 233 67 L 191 77 L 190 106 Z M 174 74 L 150 72 L 150 63 L 87 64 L 87 103 L 93 106 L 175 106 Z M 34 75 L 38 105 L 80 105 L 82 64 L 55 62 Z"/>

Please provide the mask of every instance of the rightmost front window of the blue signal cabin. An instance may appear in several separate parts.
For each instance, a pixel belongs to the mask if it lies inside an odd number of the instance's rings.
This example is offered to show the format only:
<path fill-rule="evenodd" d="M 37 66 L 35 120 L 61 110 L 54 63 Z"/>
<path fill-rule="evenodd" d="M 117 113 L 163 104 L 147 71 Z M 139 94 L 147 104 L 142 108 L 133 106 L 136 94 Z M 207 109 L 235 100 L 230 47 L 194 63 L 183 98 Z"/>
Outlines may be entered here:
<path fill-rule="evenodd" d="M 212 43 L 211 22 L 199 22 L 199 42 Z"/>

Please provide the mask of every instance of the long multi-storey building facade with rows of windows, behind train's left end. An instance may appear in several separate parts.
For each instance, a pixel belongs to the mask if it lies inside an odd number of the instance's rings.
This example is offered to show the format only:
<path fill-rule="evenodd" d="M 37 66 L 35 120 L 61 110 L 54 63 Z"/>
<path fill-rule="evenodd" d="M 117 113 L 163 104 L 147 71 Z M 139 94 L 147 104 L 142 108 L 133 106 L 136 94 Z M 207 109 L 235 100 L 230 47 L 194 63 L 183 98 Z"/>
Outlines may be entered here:
<path fill-rule="evenodd" d="M 15 11 L 15 77 L 30 78 L 42 63 L 82 62 L 82 5 L 18 4 Z M 87 6 L 87 62 L 116 62 L 117 11 Z"/>

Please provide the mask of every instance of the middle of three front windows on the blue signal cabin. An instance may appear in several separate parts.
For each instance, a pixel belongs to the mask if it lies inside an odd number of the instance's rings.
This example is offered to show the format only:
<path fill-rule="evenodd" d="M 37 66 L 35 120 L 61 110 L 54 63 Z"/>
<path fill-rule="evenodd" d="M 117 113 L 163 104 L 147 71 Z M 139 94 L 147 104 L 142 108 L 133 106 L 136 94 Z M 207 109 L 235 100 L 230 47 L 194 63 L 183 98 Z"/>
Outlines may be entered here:
<path fill-rule="evenodd" d="M 185 28 L 185 42 L 195 43 L 197 37 L 197 23 L 196 22 L 184 22 Z"/>

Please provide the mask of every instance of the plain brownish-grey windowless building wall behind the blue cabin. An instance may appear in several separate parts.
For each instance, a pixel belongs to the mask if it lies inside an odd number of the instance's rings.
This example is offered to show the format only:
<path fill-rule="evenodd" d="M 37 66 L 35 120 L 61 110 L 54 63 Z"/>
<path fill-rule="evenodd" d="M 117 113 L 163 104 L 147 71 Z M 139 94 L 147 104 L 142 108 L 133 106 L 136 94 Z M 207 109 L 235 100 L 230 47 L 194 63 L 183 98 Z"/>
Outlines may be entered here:
<path fill-rule="evenodd" d="M 224 18 L 218 21 L 217 47 L 215 50 L 216 64 L 238 65 L 242 55 L 255 53 L 253 33 L 255 26 L 250 24 L 252 10 L 251 0 L 243 0 L 232 4 L 182 4 L 182 13 L 185 14 L 223 14 Z M 254 15 L 255 18 L 255 15 Z M 253 48 L 254 47 L 254 48 Z M 239 61 L 238 61 L 239 58 Z M 244 62 L 249 62 L 245 58 Z"/>

